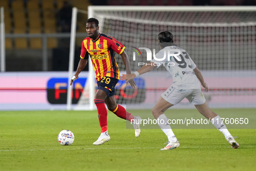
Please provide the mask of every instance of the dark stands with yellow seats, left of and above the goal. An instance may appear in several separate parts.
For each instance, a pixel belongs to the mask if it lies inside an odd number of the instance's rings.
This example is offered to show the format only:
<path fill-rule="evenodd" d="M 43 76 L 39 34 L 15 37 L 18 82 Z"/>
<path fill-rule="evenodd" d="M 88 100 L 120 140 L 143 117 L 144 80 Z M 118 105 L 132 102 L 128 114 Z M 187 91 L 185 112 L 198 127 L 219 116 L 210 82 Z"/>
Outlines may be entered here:
<path fill-rule="evenodd" d="M 4 7 L 6 33 L 6 71 L 68 71 L 68 40 L 62 41 L 62 34 L 70 31 L 71 6 L 87 11 L 89 5 L 255 5 L 254 0 L 69 0 L 70 6 L 64 6 L 65 0 L 1 0 Z M 62 10 L 61 10 L 62 9 Z M 78 13 L 77 32 L 86 33 L 86 14 Z M 43 38 L 30 38 L 20 34 L 52 34 L 47 38 L 47 64 L 43 66 Z M 56 34 L 56 35 L 55 35 Z M 16 36 L 15 36 L 16 35 Z M 20 35 L 20 37 L 18 37 Z M 25 37 L 26 36 L 26 37 Z M 42 36 L 42 35 L 38 35 Z M 76 40 L 77 53 L 80 53 L 81 35 Z M 77 54 L 76 53 L 76 54 Z M 54 57 L 53 57 L 54 56 Z M 75 62 L 77 65 L 78 62 Z M 250 68 L 251 69 L 251 68 Z M 255 68 L 254 68 L 255 69 Z"/>

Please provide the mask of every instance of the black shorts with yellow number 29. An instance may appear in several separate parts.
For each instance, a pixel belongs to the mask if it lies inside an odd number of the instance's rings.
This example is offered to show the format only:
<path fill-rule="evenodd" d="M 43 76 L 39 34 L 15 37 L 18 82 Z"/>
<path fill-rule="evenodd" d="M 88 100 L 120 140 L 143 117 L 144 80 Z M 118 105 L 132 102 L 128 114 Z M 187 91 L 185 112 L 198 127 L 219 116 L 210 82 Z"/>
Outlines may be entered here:
<path fill-rule="evenodd" d="M 118 83 L 117 78 L 103 77 L 100 81 L 97 82 L 98 90 L 103 90 L 107 93 L 107 97 L 115 95 L 115 86 Z"/>

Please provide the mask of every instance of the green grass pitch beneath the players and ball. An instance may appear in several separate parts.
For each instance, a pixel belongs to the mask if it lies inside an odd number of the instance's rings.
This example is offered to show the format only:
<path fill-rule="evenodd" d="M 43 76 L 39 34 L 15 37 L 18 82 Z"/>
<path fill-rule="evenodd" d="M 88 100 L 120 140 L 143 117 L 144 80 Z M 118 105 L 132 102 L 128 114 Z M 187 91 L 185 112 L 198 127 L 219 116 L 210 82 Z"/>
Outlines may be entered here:
<path fill-rule="evenodd" d="M 175 114 L 187 110 L 170 110 Z M 131 111 L 133 112 L 133 111 Z M 151 110 L 136 111 L 148 113 Z M 197 113 L 196 110 L 189 110 Z M 220 116 L 256 109 L 216 109 Z M 256 117 L 255 117 L 256 118 Z M 71 130 L 71 146 L 58 143 L 58 133 Z M 232 149 L 217 129 L 174 129 L 180 147 L 160 151 L 168 140 L 160 129 L 134 136 L 126 121 L 108 113 L 111 140 L 94 146 L 100 134 L 97 111 L 0 112 L 1 171 L 252 171 L 256 168 L 256 130 L 230 129 L 240 144 Z"/>

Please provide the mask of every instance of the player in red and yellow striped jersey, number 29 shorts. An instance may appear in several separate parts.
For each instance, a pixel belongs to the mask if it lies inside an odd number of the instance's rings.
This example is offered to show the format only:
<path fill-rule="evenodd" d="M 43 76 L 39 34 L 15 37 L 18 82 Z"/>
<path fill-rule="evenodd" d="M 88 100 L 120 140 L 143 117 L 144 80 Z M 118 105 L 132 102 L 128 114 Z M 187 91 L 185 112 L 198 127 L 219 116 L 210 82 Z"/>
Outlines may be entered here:
<path fill-rule="evenodd" d="M 89 37 L 86 37 L 82 42 L 81 59 L 78 64 L 75 78 L 78 78 L 79 73 L 87 65 L 89 55 L 95 71 L 95 78 L 97 80 L 98 89 L 95 94 L 94 103 L 97 106 L 98 118 L 100 121 L 101 134 L 94 145 L 100 145 L 110 140 L 107 132 L 107 108 L 120 118 L 128 121 L 133 121 L 135 129 L 135 137 L 139 137 L 140 129 L 136 120 L 141 119 L 139 116 L 133 116 L 126 112 L 123 106 L 117 105 L 115 99 L 115 86 L 119 81 L 120 72 L 115 59 L 115 52 L 118 53 L 123 60 L 126 67 L 126 72 L 131 73 L 130 63 L 125 47 L 120 44 L 113 37 L 109 37 L 99 32 L 99 22 L 97 19 L 90 18 L 86 21 L 86 31 Z M 72 85 L 73 79 L 70 81 Z M 134 80 L 129 81 L 131 87 L 135 87 Z M 138 123 L 139 121 L 137 121 Z"/>

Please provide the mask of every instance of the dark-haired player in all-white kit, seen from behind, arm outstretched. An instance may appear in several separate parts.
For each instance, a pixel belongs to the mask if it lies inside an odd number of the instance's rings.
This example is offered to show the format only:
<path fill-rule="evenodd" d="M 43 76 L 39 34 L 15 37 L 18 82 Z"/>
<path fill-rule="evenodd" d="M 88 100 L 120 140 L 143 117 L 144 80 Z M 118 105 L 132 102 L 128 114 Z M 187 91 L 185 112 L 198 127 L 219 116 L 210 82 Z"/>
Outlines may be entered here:
<path fill-rule="evenodd" d="M 166 134 L 169 142 L 161 150 L 174 149 L 180 145 L 168 124 L 168 118 L 165 116 L 164 112 L 169 107 L 178 104 L 184 98 L 187 98 L 189 103 L 193 104 L 196 109 L 198 109 L 198 112 L 204 115 L 204 117 L 211 119 L 211 123 L 224 134 L 232 148 L 237 149 L 239 144 L 234 140 L 225 124 L 221 123 L 222 120 L 220 119 L 220 116 L 209 109 L 204 95 L 201 92 L 200 83 L 207 92 L 208 86 L 204 82 L 200 70 L 196 67 L 188 53 L 184 49 L 175 46 L 173 43 L 173 35 L 169 31 L 159 33 L 158 39 L 161 50 L 156 54 L 156 58 L 145 64 L 133 74 L 123 74 L 120 78 L 121 80 L 126 80 L 127 83 L 127 81 L 151 71 L 152 68 L 156 66 L 158 68 L 162 64 L 164 64 L 167 71 L 172 75 L 172 85 L 162 93 L 156 106 L 152 109 L 152 114 L 156 119 L 165 121 L 163 124 L 159 123 L 159 127 Z M 168 59 L 165 57 L 168 52 L 169 54 L 177 55 L 170 56 Z"/>

